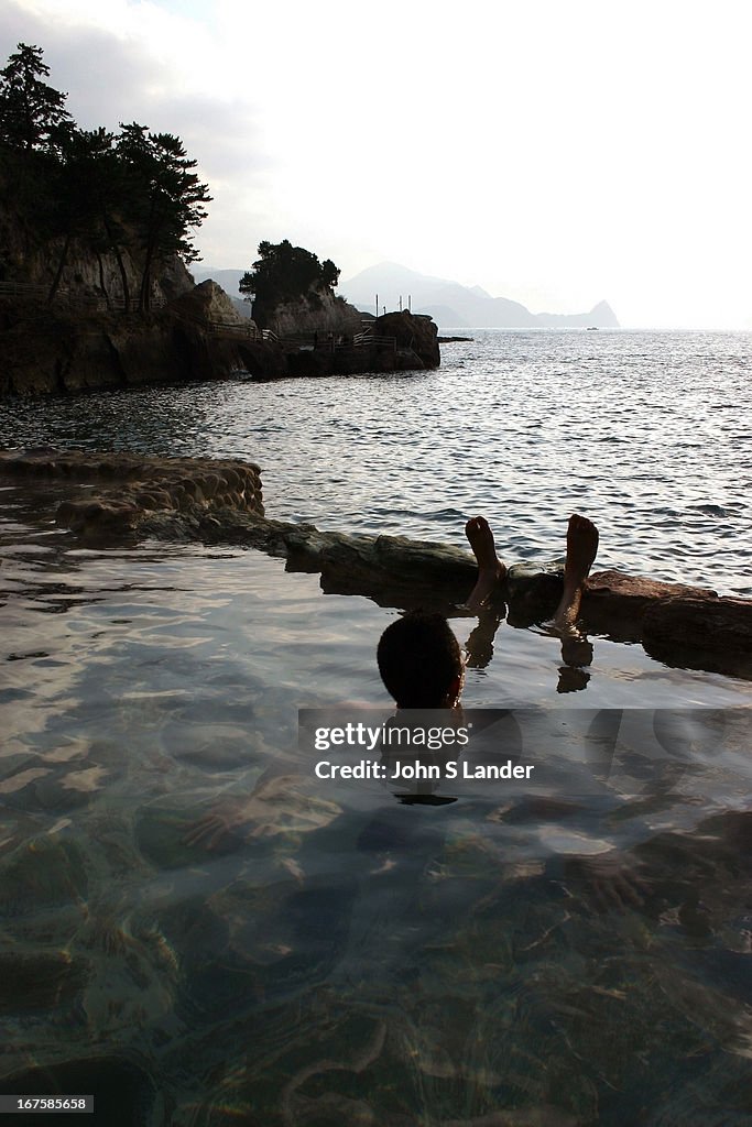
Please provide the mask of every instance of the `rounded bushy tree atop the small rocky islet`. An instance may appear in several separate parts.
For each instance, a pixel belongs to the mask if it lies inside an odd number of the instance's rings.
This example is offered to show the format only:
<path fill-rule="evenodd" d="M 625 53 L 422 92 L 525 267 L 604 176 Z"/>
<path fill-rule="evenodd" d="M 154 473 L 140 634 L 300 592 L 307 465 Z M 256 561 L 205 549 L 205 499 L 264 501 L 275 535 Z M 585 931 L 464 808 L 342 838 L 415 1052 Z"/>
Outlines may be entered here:
<path fill-rule="evenodd" d="M 268 320 L 274 309 L 285 302 L 306 299 L 312 308 L 321 305 L 321 292 L 333 291 L 339 270 L 326 258 L 322 263 L 310 250 L 282 242 L 259 242 L 259 257 L 240 278 L 240 293 L 255 294 L 254 317 Z"/>

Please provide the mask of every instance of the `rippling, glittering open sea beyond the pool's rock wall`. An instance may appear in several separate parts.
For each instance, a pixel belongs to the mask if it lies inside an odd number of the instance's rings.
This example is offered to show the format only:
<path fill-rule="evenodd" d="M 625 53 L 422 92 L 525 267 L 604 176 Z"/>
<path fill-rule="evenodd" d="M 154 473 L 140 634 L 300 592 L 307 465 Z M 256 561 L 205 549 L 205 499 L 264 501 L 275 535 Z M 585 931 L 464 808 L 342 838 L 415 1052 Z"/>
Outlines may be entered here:
<path fill-rule="evenodd" d="M 604 566 L 749 591 L 752 335 L 474 336 L 436 373 L 6 403 L 0 444 L 249 458 L 269 515 L 461 544 L 484 512 L 525 554 L 577 507 Z"/>

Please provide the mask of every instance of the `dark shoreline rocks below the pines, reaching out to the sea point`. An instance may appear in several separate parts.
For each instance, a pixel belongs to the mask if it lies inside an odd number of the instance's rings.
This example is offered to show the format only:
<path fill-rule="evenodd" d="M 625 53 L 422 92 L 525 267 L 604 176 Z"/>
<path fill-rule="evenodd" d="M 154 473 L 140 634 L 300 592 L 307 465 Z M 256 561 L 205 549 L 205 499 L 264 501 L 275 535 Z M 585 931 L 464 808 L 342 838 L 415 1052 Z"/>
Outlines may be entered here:
<path fill-rule="evenodd" d="M 149 313 L 51 308 L 0 295 L 0 400 L 238 376 L 267 381 L 439 366 L 437 329 L 430 318 L 390 313 L 381 322 L 375 330 L 381 343 L 312 352 L 294 341 L 255 339 L 253 322 L 239 317 L 211 279 Z M 395 338 L 396 347 L 384 337 Z"/>

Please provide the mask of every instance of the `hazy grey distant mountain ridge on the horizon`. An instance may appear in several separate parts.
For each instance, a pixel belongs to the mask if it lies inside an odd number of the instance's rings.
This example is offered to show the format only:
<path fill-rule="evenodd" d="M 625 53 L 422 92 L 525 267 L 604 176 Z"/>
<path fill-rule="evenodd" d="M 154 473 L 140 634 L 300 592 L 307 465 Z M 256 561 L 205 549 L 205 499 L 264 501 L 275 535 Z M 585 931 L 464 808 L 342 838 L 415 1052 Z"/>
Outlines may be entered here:
<path fill-rule="evenodd" d="M 616 314 L 601 301 L 587 313 L 531 313 L 517 301 L 492 298 L 480 286 L 463 286 L 446 278 L 428 277 L 398 263 L 379 263 L 339 285 L 339 293 L 361 309 L 373 312 L 379 307 L 397 309 L 399 298 L 407 309 L 408 295 L 414 313 L 427 313 L 440 326 L 460 328 L 524 329 L 595 327 L 618 328 Z"/>

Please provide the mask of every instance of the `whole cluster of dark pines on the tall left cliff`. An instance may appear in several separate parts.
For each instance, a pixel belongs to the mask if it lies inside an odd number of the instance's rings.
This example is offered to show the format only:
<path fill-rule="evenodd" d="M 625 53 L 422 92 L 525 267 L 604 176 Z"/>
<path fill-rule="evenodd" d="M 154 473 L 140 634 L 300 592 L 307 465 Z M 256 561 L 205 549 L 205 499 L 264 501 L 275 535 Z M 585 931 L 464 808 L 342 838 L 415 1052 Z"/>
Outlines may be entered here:
<path fill-rule="evenodd" d="M 0 149 L 3 206 L 20 216 L 46 252 L 53 301 L 71 248 L 94 255 L 99 287 L 112 307 L 103 256 L 120 270 L 125 309 L 131 305 L 129 258 L 139 264 L 139 309 L 150 307 L 157 267 L 179 255 L 198 256 L 192 232 L 206 218 L 209 188 L 194 171 L 179 137 L 122 125 L 122 133 L 80 130 L 64 108 L 67 95 L 43 79 L 42 48 L 19 43 L 0 70 Z M 127 252 L 126 252 L 127 251 Z M 15 272 L 23 275 L 19 259 Z"/>

